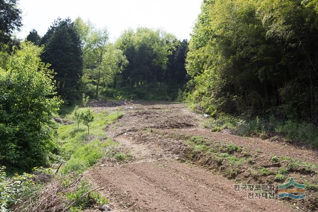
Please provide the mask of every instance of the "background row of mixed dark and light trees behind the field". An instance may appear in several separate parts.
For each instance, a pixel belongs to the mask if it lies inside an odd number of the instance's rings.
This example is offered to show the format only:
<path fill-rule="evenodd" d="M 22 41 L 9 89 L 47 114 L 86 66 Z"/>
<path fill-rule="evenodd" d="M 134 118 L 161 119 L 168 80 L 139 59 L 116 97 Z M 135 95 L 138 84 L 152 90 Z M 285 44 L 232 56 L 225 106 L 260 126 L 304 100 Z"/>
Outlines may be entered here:
<path fill-rule="evenodd" d="M 162 30 L 130 29 L 111 43 L 107 28 L 59 18 L 43 37 L 34 29 L 26 40 L 44 45 L 41 58 L 57 73 L 58 94 L 68 103 L 82 93 L 95 99 L 174 99 L 186 81 L 188 43 Z"/>

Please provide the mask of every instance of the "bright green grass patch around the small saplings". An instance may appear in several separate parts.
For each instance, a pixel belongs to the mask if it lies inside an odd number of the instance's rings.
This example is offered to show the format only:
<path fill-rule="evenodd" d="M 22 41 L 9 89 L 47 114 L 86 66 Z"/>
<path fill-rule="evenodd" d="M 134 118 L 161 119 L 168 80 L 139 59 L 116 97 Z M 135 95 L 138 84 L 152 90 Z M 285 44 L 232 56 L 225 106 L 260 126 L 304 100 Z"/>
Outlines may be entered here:
<path fill-rule="evenodd" d="M 107 125 L 117 120 L 117 111 L 108 113 L 105 110 L 93 115 L 95 118 L 91 123 L 89 136 L 86 127 L 81 123 L 79 128 L 77 123 L 60 125 L 58 128 L 58 138 L 67 161 L 62 167 L 64 174 L 83 172 L 105 155 L 106 148 L 114 149 L 115 146 L 119 145 L 119 143 L 107 139 L 104 130 Z M 72 118 L 73 113 L 65 117 Z"/>

